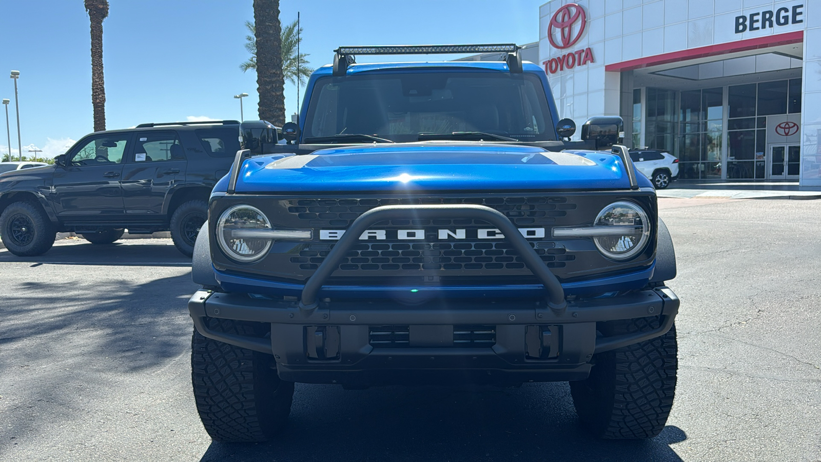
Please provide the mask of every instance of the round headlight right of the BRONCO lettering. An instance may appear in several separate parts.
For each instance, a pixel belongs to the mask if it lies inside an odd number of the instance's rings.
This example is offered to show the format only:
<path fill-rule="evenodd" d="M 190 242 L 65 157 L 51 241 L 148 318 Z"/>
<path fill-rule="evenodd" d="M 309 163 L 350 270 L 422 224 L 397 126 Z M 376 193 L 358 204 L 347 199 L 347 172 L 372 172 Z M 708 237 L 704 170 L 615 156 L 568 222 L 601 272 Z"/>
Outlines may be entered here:
<path fill-rule="evenodd" d="M 644 210 L 631 202 L 613 202 L 596 217 L 602 233 L 593 238 L 599 252 L 613 260 L 627 260 L 644 250 L 650 224 Z M 609 228 L 609 229 L 608 229 Z"/>

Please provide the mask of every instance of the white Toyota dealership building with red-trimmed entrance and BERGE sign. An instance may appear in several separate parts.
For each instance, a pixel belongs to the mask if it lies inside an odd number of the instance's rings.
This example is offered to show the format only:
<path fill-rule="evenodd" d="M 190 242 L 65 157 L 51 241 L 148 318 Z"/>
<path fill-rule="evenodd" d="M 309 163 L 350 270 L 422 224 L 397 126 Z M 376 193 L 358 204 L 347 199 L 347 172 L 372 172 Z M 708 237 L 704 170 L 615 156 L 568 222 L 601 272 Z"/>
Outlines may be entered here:
<path fill-rule="evenodd" d="M 681 178 L 821 187 L 821 2 L 553 0 L 539 62 L 560 117 L 620 115 Z"/>

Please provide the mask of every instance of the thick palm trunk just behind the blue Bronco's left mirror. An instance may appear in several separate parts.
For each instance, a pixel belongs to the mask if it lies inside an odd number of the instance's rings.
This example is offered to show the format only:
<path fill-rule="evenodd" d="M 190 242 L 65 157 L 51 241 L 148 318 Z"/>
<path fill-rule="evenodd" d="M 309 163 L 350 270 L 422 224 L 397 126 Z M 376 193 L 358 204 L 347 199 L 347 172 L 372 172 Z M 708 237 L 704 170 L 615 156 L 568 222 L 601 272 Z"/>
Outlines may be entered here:
<path fill-rule="evenodd" d="M 279 0 L 254 0 L 254 22 L 259 118 L 282 126 L 285 123 L 285 79 L 282 76 Z"/>

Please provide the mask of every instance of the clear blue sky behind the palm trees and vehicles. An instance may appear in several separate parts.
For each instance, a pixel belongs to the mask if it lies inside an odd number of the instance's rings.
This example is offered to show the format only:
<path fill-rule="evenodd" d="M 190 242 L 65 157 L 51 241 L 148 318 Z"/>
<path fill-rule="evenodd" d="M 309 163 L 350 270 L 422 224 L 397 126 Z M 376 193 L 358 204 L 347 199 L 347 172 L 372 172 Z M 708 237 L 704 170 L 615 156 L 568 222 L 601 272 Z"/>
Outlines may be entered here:
<path fill-rule="evenodd" d="M 109 0 L 103 22 L 106 127 L 197 118 L 257 118 L 256 73 L 245 21 L 251 0 Z M 547 0 L 282 0 L 280 21 L 296 19 L 311 67 L 333 61 L 339 45 L 525 44 L 539 39 L 539 6 Z M 11 99 L 11 152 L 16 155 L 12 69 L 18 81 L 23 154 L 62 154 L 93 130 L 89 19 L 82 0 L 0 2 L 0 99 Z M 445 57 L 447 58 L 447 57 Z M 424 58 L 415 58 L 424 59 Z M 439 59 L 439 58 L 435 58 Z M 358 62 L 376 59 L 358 58 Z M 296 86 L 286 85 L 287 114 Z M 2 108 L 0 108 L 2 109 Z M 0 123 L 5 114 L 0 113 Z M 5 127 L 0 154 L 6 154 Z"/>

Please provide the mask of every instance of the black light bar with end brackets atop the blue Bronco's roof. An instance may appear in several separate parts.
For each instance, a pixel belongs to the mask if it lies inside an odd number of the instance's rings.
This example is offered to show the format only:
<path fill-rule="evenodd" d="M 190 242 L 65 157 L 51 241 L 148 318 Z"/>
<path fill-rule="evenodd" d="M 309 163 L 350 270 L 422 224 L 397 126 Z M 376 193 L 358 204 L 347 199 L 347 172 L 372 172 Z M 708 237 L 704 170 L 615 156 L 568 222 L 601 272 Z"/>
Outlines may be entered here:
<path fill-rule="evenodd" d="M 507 68 L 520 73 L 521 47 L 517 44 L 473 44 L 473 45 L 397 45 L 371 47 L 339 47 L 333 50 L 333 75 L 345 76 L 348 66 L 356 62 L 356 54 L 438 54 L 438 53 L 507 53 Z"/>

